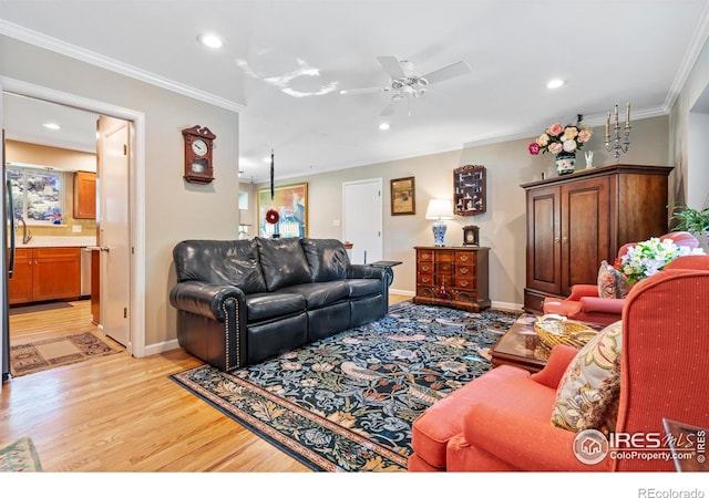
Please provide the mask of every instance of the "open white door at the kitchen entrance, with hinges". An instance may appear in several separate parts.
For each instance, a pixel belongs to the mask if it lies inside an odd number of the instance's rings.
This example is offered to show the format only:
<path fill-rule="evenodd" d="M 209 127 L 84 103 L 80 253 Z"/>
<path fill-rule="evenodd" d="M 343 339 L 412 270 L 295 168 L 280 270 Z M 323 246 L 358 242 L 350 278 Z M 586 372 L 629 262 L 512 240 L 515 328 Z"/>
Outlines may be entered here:
<path fill-rule="evenodd" d="M 101 248 L 101 328 L 124 346 L 131 344 L 131 240 L 129 174 L 131 123 L 99 118 L 96 168 L 99 247 Z"/>

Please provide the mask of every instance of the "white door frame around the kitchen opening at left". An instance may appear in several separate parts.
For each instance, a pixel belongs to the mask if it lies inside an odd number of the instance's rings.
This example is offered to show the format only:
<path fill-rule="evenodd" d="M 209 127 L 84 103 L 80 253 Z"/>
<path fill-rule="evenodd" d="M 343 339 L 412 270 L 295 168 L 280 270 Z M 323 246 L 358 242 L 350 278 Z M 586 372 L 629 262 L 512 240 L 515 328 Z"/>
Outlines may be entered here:
<path fill-rule="evenodd" d="M 131 231 L 131 344 L 129 353 L 145 356 L 145 114 L 105 102 L 94 101 L 20 80 L 0 76 L 0 95 L 4 92 L 68 105 L 95 114 L 119 117 L 133 123 L 133 143 L 129 172 Z M 0 106 L 0 112 L 2 107 Z M 0 116 L 0 124 L 2 120 Z M 4 159 L 4 158 L 3 158 Z"/>

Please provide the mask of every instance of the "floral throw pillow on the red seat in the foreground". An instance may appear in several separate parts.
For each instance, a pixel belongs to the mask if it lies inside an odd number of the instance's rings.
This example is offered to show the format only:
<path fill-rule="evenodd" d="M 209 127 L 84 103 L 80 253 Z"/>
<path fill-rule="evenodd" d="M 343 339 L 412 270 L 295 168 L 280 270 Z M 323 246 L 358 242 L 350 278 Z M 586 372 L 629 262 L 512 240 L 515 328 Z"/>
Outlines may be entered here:
<path fill-rule="evenodd" d="M 615 427 L 623 322 L 598 332 L 568 364 L 556 390 L 552 425 L 579 432 Z"/>

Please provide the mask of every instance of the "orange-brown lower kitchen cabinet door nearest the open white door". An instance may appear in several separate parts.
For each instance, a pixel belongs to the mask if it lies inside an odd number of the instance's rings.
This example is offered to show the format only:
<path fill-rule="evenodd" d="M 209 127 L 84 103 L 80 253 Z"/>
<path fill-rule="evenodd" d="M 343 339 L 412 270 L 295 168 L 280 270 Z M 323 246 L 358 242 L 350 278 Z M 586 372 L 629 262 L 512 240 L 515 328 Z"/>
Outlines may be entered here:
<path fill-rule="evenodd" d="M 33 300 L 79 298 L 81 249 L 78 247 L 37 248 L 33 251 Z"/>

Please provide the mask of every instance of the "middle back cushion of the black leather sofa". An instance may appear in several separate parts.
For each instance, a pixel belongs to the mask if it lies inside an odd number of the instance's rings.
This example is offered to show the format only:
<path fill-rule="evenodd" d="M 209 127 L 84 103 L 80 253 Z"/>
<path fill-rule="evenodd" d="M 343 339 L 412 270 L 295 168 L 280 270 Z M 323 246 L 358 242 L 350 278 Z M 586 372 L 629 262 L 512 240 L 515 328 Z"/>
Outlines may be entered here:
<path fill-rule="evenodd" d="M 310 267 L 300 239 L 266 239 L 257 237 L 259 260 L 269 292 L 284 287 L 310 283 Z"/>

